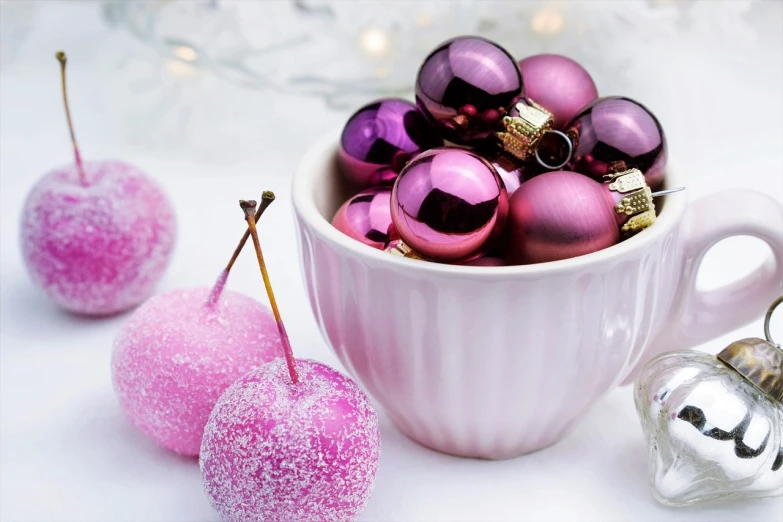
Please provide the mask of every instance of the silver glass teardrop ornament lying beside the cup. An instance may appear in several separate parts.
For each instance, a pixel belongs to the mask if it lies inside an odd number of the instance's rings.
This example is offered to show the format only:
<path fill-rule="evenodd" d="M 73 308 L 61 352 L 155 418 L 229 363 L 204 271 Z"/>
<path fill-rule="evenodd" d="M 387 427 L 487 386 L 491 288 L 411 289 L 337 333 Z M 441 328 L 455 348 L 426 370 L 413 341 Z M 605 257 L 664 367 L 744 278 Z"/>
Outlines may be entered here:
<path fill-rule="evenodd" d="M 634 399 L 656 500 L 679 506 L 783 494 L 783 351 L 743 339 L 717 356 L 669 352 L 649 361 Z"/>

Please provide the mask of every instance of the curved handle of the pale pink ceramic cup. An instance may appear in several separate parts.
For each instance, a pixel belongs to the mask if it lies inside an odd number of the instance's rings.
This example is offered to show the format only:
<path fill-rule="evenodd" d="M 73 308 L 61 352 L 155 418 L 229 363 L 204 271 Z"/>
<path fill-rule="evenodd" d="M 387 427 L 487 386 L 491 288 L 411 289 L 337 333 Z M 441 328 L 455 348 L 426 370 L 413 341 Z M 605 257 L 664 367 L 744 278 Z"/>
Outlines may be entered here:
<path fill-rule="evenodd" d="M 685 350 L 735 330 L 763 314 L 783 294 L 783 205 L 751 190 L 724 190 L 688 208 L 681 229 L 682 278 L 668 323 L 626 377 L 630 382 L 647 360 L 670 350 Z M 714 290 L 696 288 L 707 251 L 732 236 L 761 239 L 772 253 L 758 270 Z"/>

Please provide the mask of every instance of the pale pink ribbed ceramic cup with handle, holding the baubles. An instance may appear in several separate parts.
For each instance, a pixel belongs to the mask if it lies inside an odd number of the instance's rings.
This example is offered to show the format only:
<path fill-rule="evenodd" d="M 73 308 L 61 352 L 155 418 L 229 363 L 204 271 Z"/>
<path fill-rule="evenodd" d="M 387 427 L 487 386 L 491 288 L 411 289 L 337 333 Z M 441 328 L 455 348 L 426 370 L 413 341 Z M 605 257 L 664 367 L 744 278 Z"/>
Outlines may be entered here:
<path fill-rule="evenodd" d="M 593 254 L 527 266 L 405 259 L 330 220 L 351 194 L 339 134 L 293 181 L 302 268 L 321 331 L 406 435 L 455 455 L 508 458 L 557 442 L 644 360 L 758 317 L 783 292 L 783 208 L 736 190 L 687 205 L 667 197 L 649 229 Z M 681 172 L 668 186 L 686 185 Z M 698 290 L 705 252 L 749 235 L 772 255 L 717 290 Z"/>

